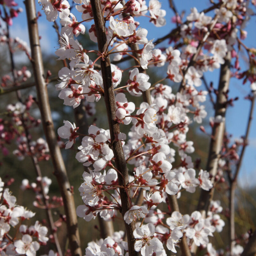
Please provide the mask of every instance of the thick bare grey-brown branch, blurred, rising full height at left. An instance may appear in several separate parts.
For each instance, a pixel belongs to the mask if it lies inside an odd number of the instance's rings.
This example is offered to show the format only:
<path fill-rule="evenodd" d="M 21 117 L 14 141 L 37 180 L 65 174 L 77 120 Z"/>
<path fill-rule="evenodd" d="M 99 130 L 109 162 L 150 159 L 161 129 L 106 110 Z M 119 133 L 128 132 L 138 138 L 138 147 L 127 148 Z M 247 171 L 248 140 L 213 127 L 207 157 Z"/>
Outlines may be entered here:
<path fill-rule="evenodd" d="M 64 203 L 64 209 L 67 216 L 67 228 L 70 250 L 72 256 L 81 256 L 82 252 L 80 248 L 80 238 L 77 227 L 75 202 L 68 181 L 66 168 L 60 153 L 60 148 L 57 144 L 56 135 L 54 132 L 52 122 L 48 92 L 44 81 L 44 66 L 38 36 L 35 1 L 25 0 L 25 5 L 27 11 L 29 40 L 32 52 L 32 64 L 36 81 L 36 91 L 39 102 L 39 108 L 41 112 L 44 133 L 46 136 L 46 140 L 52 158 L 52 163 L 54 166 L 54 175 L 56 176 L 59 183 L 59 188 Z"/>

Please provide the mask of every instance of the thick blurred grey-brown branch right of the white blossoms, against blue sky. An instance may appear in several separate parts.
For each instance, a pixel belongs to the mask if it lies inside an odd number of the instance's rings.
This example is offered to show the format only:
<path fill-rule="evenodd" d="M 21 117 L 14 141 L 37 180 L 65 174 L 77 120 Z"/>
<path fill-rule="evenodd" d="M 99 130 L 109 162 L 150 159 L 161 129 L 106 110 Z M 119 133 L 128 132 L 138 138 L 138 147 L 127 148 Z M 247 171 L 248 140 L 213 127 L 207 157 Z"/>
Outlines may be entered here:
<path fill-rule="evenodd" d="M 220 80 L 219 80 L 219 88 L 218 95 L 215 103 L 215 117 L 222 116 L 225 118 L 226 115 L 226 97 L 225 93 L 229 87 L 230 80 L 230 61 L 231 54 L 227 53 L 225 58 L 225 63 L 221 65 L 220 68 Z M 220 159 L 220 151 L 222 147 L 223 135 L 225 131 L 225 120 L 220 122 L 218 125 L 214 125 L 212 128 L 212 138 L 210 142 L 208 161 L 206 165 L 206 170 L 212 175 L 212 181 L 214 181 L 214 177 L 216 176 L 218 170 L 218 161 Z M 208 208 L 210 202 L 213 198 L 214 186 L 210 191 L 201 190 L 201 195 L 199 198 L 199 202 L 197 205 L 197 210 L 202 213 L 203 217 L 207 216 Z"/>

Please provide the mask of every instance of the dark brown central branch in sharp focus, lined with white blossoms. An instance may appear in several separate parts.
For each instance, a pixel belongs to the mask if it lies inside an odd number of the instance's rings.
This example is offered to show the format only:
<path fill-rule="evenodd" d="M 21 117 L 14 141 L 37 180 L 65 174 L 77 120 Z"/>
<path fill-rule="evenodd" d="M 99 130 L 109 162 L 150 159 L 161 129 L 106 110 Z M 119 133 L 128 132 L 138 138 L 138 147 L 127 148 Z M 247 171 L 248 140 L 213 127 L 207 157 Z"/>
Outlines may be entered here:
<path fill-rule="evenodd" d="M 107 36 L 105 29 L 105 21 L 101 10 L 100 0 L 91 0 L 92 13 L 95 22 L 95 29 L 97 33 L 98 47 L 100 52 L 105 52 L 107 50 Z M 126 166 L 126 161 L 124 157 L 124 152 L 122 148 L 121 141 L 115 140 L 117 134 L 120 133 L 119 124 L 114 121 L 116 118 L 116 100 L 115 93 L 112 82 L 112 73 L 110 66 L 109 56 L 104 60 L 100 60 L 101 74 L 104 85 L 104 100 L 108 116 L 108 124 L 110 131 L 110 138 L 113 143 L 113 152 L 115 156 L 116 168 L 119 170 L 117 173 L 119 185 L 126 187 L 129 183 L 128 179 L 128 169 Z M 124 216 L 131 207 L 131 191 L 129 188 L 120 188 L 120 197 L 122 203 L 122 215 Z M 130 256 L 138 255 L 134 250 L 135 238 L 133 236 L 133 230 L 135 229 L 134 221 L 131 224 L 124 222 L 128 240 L 128 250 Z"/>

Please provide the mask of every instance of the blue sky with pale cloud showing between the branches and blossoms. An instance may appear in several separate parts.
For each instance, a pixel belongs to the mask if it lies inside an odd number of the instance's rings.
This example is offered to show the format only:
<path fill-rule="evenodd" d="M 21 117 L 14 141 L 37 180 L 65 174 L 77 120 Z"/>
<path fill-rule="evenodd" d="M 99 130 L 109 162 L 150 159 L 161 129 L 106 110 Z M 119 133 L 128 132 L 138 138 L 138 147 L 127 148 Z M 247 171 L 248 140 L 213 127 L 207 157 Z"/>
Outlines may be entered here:
<path fill-rule="evenodd" d="M 18 1 L 19 2 L 19 1 Z M 20 7 L 24 9 L 23 13 L 19 15 L 18 18 L 13 20 L 13 26 L 10 29 L 11 35 L 13 37 L 18 36 L 20 39 L 26 41 L 29 44 L 28 39 L 28 31 L 27 31 L 27 19 L 26 19 L 26 12 L 25 6 L 21 2 Z M 161 1 L 160 1 L 161 2 Z M 190 12 L 191 7 L 196 7 L 198 11 L 201 11 L 204 8 L 210 6 L 210 1 L 207 0 L 198 0 L 198 1 L 191 1 L 191 0 L 182 0 L 177 1 L 174 0 L 176 4 L 176 8 L 178 12 L 185 11 L 186 15 Z M 192 6 L 193 4 L 193 6 Z M 156 28 L 153 24 L 148 22 L 148 18 L 142 17 L 138 21 L 140 21 L 141 27 L 148 29 L 148 39 L 158 38 L 165 34 L 167 34 L 172 28 L 174 28 L 175 24 L 171 23 L 171 17 L 174 15 L 172 10 L 169 7 L 169 1 L 163 0 L 162 7 L 166 10 L 166 21 L 167 25 L 163 28 Z M 41 46 L 44 53 L 49 52 L 53 53 L 58 46 L 57 44 L 57 35 L 52 28 L 52 23 L 48 22 L 45 18 L 43 11 L 41 10 L 41 6 L 37 3 L 36 4 L 37 11 L 41 11 L 43 14 L 42 17 L 39 18 L 39 34 L 42 37 L 41 39 Z M 256 11 L 255 8 L 253 10 Z M 76 15 L 77 12 L 73 9 L 73 13 Z M 212 14 L 212 13 L 211 13 Z M 77 17 L 80 17 L 78 14 Z M 85 24 L 86 25 L 86 24 Z M 256 18 L 255 16 L 248 21 L 246 30 L 248 31 L 248 36 L 244 40 L 244 43 L 248 47 L 255 47 L 256 42 L 256 33 L 255 33 L 255 25 L 256 25 Z M 168 40 L 164 43 L 159 44 L 158 47 L 161 45 L 167 45 Z M 246 63 L 244 60 L 240 59 L 240 66 L 242 70 L 245 69 Z M 205 73 L 206 80 L 208 82 L 213 81 L 214 85 L 218 85 L 218 78 L 219 78 L 219 70 L 214 72 L 207 72 Z M 202 86 L 204 90 L 204 87 Z M 250 102 L 244 100 L 244 97 L 250 92 L 249 84 L 242 85 L 241 80 L 231 79 L 230 81 L 230 94 L 229 97 L 236 97 L 239 96 L 239 100 L 235 102 L 234 107 L 228 108 L 227 111 L 227 130 L 228 132 L 233 134 L 233 138 L 239 138 L 241 135 L 245 133 L 245 126 L 248 119 L 248 111 L 250 107 Z M 256 106 L 255 106 L 256 108 Z M 206 119 L 212 116 L 213 112 L 209 112 Z M 256 116 L 256 109 L 254 110 L 254 116 Z M 243 164 L 240 170 L 240 184 L 243 186 L 248 187 L 250 185 L 256 184 L 256 118 L 252 120 L 252 127 L 250 132 L 250 144 L 246 149 L 245 156 L 243 159 Z"/>

